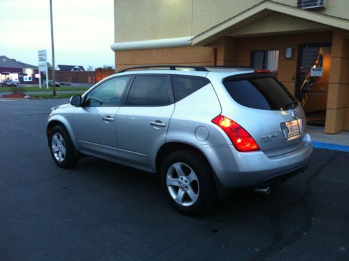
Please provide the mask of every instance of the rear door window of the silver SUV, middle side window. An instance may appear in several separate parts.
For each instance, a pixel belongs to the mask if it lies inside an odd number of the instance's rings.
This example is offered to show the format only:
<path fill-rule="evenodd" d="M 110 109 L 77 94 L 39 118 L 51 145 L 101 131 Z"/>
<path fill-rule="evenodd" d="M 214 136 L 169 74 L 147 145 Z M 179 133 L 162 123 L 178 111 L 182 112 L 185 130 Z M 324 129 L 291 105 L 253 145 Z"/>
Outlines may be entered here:
<path fill-rule="evenodd" d="M 164 106 L 171 104 L 168 76 L 136 76 L 129 90 L 128 106 Z"/>

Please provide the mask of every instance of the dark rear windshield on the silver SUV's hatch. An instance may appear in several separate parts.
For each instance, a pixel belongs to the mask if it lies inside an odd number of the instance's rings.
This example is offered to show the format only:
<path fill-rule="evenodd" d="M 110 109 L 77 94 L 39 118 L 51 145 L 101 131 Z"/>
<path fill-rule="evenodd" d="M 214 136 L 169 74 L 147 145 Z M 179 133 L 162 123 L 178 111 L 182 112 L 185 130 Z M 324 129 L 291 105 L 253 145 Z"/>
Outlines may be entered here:
<path fill-rule="evenodd" d="M 290 92 L 271 76 L 226 78 L 223 85 L 234 101 L 248 108 L 283 111 L 298 105 Z"/>

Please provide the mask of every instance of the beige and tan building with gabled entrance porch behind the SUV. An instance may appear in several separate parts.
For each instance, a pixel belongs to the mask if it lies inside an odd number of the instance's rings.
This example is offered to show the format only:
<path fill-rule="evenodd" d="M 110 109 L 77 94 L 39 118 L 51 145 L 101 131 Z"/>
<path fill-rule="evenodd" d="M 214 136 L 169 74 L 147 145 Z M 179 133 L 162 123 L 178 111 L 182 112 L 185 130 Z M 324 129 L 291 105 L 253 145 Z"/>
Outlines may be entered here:
<path fill-rule="evenodd" d="M 349 131 L 348 0 L 115 0 L 115 68 L 269 69 L 309 123 Z"/>

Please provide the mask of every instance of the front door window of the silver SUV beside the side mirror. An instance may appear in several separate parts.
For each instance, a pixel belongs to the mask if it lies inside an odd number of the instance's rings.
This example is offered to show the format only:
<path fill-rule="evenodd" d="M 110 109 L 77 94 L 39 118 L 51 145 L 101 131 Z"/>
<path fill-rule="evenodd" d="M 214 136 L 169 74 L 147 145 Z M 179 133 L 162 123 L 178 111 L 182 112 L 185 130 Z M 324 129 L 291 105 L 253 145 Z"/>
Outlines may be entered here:
<path fill-rule="evenodd" d="M 121 105 L 122 94 L 126 89 L 131 76 L 117 77 L 107 80 L 90 93 L 85 99 L 85 106 L 90 107 L 117 107 Z"/>

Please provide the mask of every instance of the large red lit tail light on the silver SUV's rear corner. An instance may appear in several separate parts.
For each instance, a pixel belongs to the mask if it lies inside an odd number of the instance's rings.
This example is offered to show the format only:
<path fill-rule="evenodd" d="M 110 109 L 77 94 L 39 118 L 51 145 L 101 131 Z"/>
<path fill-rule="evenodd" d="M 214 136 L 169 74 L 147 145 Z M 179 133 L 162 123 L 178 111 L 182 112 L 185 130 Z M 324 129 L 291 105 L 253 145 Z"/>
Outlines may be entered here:
<path fill-rule="evenodd" d="M 259 147 L 252 136 L 246 132 L 243 127 L 234 122 L 234 120 L 223 115 L 218 115 L 212 120 L 212 122 L 223 129 L 234 144 L 236 150 L 242 152 L 259 150 Z"/>

